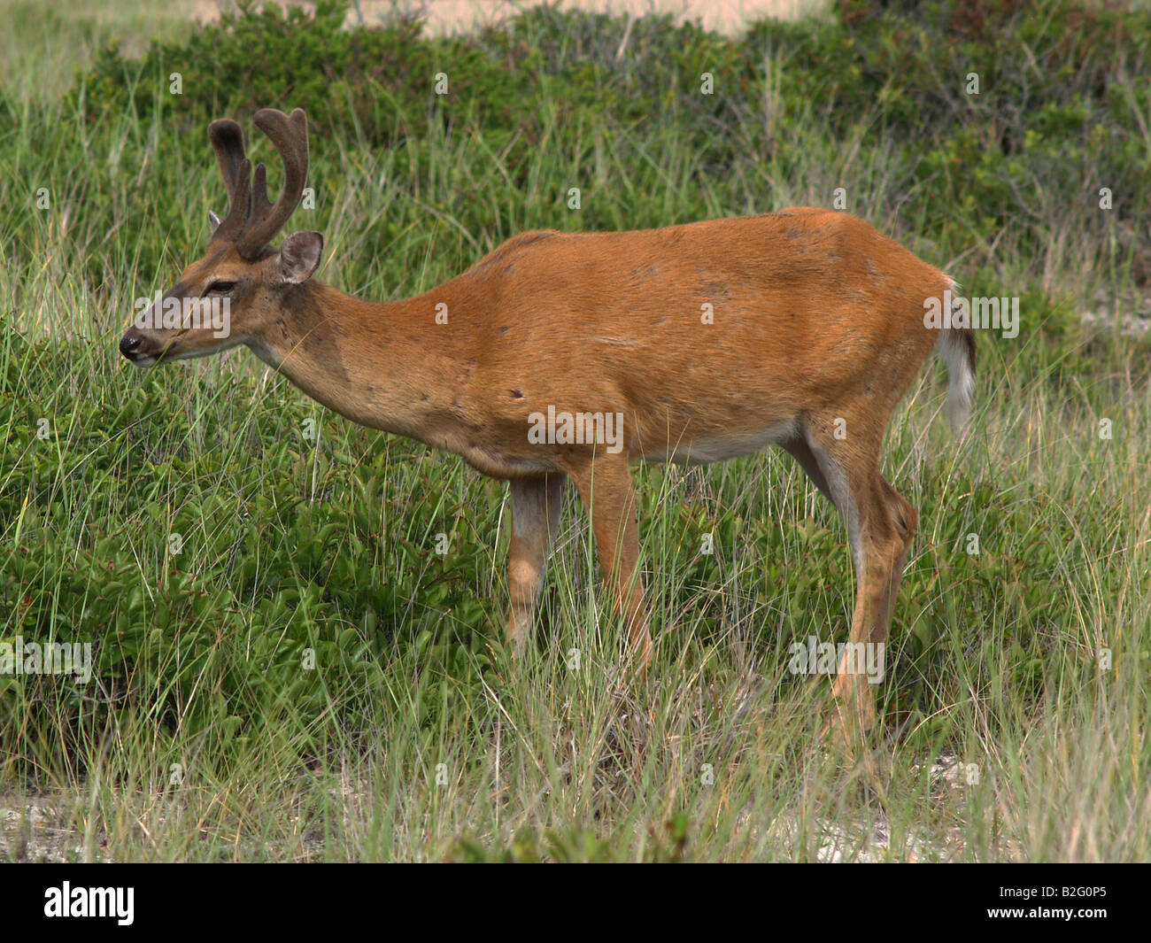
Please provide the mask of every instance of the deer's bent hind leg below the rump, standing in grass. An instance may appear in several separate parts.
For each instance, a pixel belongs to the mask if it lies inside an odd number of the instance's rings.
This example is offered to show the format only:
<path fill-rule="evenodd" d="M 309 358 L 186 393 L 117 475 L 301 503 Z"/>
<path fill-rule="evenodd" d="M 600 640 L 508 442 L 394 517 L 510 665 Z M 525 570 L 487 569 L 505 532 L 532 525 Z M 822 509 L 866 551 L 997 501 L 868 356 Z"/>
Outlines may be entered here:
<path fill-rule="evenodd" d="M 809 425 L 805 440 L 823 474 L 825 490 L 847 524 L 855 565 L 849 644 L 832 687 L 836 725 L 844 743 L 852 746 L 875 720 L 874 684 L 883 678 L 891 614 L 917 518 L 912 505 L 879 474 L 882 433 L 860 433 L 853 439 L 848 419 L 848 436 L 836 440 L 821 425 Z M 883 649 L 878 648 L 881 642 Z"/>

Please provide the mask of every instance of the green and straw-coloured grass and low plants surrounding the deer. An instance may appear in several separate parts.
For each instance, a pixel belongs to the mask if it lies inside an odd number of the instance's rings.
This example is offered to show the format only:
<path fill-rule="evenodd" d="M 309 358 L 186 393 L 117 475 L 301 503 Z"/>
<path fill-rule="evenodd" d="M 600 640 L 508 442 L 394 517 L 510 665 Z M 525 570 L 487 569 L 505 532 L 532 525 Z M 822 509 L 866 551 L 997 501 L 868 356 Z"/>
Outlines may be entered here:
<path fill-rule="evenodd" d="M 17 12 L 5 41 L 53 82 L 91 54 L 75 20 L 48 48 L 55 14 Z M 574 55 L 555 39 L 527 52 Z M 325 233 L 320 277 L 366 297 L 425 291 L 525 228 L 829 205 L 841 185 L 970 292 L 1024 299 L 1016 340 L 980 337 L 965 439 L 933 364 L 891 429 L 885 474 L 921 523 L 878 691 L 877 796 L 820 740 L 830 680 L 787 671 L 792 641 L 845 638 L 854 585 L 843 526 L 786 456 L 637 469 L 658 652 L 624 694 L 569 494 L 535 645 L 513 662 L 502 485 L 326 413 L 246 351 L 123 362 L 132 299 L 198 254 L 223 188 L 165 90 L 93 122 L 68 88 L 9 85 L 0 132 L 0 641 L 92 641 L 96 676 L 82 692 L 0 677 L 3 803 L 49 804 L 67 836 L 7 832 L 3 854 L 1151 858 L 1148 344 L 1077 317 L 1100 289 L 1120 314 L 1139 295 L 1129 245 L 1058 200 L 1042 256 L 1014 225 L 985 237 L 975 211 L 940 229 L 883 122 L 845 142 L 813 101 L 790 102 L 771 155 L 723 173 L 683 111 L 627 128 L 588 111 L 573 129 L 546 77 L 524 104 L 544 143 L 526 151 L 482 122 L 386 149 L 313 137 L 318 206 L 294 226 Z M 932 771 L 940 758 L 958 770 Z"/>

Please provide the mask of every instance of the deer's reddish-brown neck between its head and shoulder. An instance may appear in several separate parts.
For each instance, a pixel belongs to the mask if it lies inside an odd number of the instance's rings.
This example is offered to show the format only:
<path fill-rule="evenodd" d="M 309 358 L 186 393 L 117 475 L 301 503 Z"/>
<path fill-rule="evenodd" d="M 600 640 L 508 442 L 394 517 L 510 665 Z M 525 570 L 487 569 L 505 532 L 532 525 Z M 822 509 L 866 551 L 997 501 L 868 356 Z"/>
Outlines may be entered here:
<path fill-rule="evenodd" d="M 310 280 L 287 290 L 249 347 L 341 416 L 434 444 L 458 413 L 452 404 L 468 372 L 467 332 L 436 321 L 440 303 L 468 313 L 453 296 L 450 286 L 441 286 L 416 298 L 376 303 Z"/>

